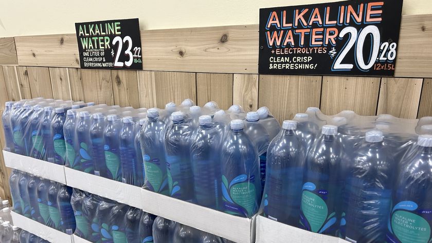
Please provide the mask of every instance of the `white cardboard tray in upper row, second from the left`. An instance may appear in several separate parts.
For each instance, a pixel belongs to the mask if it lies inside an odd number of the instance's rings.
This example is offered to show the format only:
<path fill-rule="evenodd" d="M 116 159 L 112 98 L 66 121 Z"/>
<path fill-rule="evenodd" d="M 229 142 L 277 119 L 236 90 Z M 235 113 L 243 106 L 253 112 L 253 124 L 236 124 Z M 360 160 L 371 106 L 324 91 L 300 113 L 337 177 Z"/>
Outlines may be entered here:
<path fill-rule="evenodd" d="M 141 188 L 64 167 L 67 185 L 142 209 Z"/>

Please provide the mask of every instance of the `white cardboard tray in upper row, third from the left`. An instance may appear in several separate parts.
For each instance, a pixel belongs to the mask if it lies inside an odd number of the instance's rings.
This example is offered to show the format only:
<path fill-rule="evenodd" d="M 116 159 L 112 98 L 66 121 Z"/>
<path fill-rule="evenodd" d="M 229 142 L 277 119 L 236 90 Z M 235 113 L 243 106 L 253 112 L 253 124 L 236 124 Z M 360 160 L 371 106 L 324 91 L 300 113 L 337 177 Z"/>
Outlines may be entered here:
<path fill-rule="evenodd" d="M 237 243 L 255 242 L 255 216 L 242 218 L 142 189 L 146 212 L 224 237 Z"/>

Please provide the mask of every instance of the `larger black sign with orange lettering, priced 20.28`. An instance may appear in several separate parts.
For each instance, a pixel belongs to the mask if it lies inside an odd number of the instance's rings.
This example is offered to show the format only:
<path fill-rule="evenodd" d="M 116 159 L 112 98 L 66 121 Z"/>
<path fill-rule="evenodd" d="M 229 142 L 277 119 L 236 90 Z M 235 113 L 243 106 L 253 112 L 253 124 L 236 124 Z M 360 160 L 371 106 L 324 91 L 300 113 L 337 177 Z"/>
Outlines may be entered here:
<path fill-rule="evenodd" d="M 393 76 L 402 2 L 260 9 L 259 73 Z"/>

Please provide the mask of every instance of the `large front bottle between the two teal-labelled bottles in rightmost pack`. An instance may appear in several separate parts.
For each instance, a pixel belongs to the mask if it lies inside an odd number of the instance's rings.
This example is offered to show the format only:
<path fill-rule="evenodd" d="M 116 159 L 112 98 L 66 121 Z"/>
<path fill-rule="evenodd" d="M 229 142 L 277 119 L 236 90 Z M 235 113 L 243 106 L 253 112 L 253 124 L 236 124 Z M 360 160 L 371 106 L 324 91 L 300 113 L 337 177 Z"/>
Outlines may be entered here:
<path fill-rule="evenodd" d="M 342 236 L 356 242 L 384 242 L 390 210 L 393 156 L 380 130 L 366 133 L 366 142 L 354 153 L 345 192 Z"/>

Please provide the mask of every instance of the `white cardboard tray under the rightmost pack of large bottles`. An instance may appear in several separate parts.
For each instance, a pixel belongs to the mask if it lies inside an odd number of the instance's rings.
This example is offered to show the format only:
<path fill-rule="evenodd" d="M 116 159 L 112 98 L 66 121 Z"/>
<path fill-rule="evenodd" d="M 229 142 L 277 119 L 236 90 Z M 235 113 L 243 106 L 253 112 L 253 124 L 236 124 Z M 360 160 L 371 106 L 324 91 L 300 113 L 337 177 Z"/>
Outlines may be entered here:
<path fill-rule="evenodd" d="M 329 236 L 321 235 L 293 226 L 268 219 L 263 216 L 257 216 L 257 241 L 256 243 L 349 243 L 346 240 Z"/>

